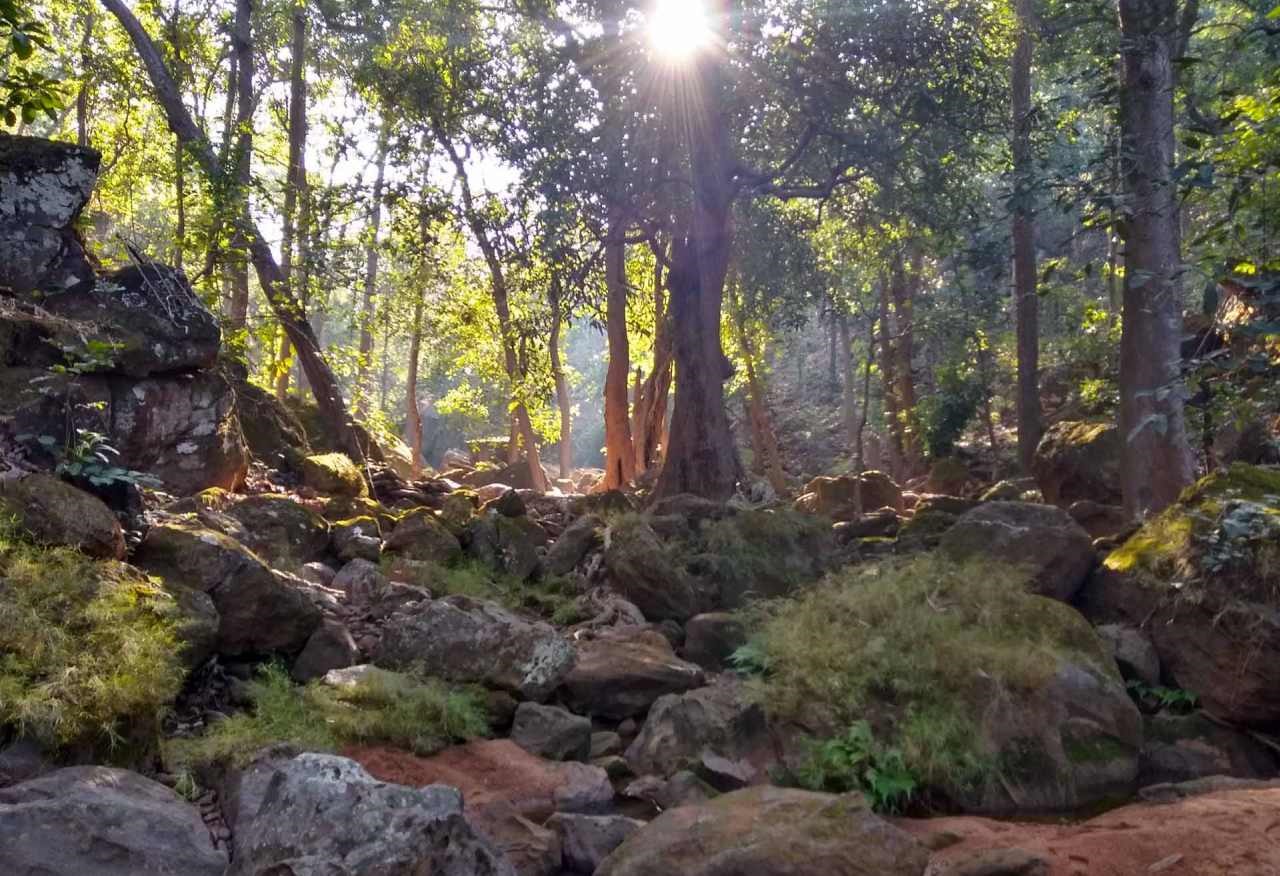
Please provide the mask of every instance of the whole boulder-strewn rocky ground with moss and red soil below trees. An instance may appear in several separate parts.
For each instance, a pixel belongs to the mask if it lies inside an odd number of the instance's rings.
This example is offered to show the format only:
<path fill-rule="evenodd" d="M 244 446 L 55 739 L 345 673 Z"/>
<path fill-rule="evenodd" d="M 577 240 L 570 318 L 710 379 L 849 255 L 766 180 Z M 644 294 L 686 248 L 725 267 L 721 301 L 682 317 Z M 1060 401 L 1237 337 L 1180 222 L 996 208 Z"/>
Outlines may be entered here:
<path fill-rule="evenodd" d="M 1275 469 L 1134 528 L 1091 423 L 794 502 L 360 466 L 74 211 L 0 347 L 4 873 L 1280 872 Z M 102 309 L 127 355 L 32 359 Z M 40 441 L 81 416 L 114 471 Z"/>

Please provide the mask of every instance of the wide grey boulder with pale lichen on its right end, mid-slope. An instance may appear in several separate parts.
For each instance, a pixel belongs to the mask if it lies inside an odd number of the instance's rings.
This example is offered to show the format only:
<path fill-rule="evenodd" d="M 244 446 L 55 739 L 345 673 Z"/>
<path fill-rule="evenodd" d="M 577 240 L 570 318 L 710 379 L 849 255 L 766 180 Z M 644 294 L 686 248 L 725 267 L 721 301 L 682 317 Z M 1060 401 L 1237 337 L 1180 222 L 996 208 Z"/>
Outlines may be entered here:
<path fill-rule="evenodd" d="M 573 667 L 573 645 L 556 628 L 492 603 L 454 596 L 394 615 L 374 662 L 485 684 L 543 701 Z"/>

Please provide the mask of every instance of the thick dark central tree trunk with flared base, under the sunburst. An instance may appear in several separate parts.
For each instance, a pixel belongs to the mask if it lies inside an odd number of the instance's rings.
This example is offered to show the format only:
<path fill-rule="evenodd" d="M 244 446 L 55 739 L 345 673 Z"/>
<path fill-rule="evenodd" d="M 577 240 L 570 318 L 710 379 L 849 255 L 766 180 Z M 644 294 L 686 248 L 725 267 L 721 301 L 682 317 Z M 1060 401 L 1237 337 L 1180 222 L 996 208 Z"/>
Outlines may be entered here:
<path fill-rule="evenodd" d="M 724 410 L 732 366 L 721 348 L 721 306 L 732 246 L 736 160 L 724 99 L 723 27 L 728 3 L 712 4 L 718 38 L 694 61 L 687 100 L 692 211 L 687 237 L 673 247 L 671 321 L 676 350 L 676 409 L 667 460 L 654 493 L 728 498 L 742 475 Z"/>

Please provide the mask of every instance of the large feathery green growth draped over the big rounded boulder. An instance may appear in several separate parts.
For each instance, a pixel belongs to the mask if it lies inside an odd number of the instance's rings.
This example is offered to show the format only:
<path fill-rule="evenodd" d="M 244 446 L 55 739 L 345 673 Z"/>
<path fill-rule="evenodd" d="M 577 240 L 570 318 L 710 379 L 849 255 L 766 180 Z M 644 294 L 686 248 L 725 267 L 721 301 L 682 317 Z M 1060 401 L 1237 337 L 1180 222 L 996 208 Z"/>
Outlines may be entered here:
<path fill-rule="evenodd" d="M 1073 608 L 1028 593 L 1021 569 L 934 555 L 838 572 L 762 607 L 754 681 L 776 717 L 840 729 L 869 720 L 922 784 L 972 786 L 996 765 L 978 720 L 992 680 L 1037 690 L 1064 656 L 1106 671 Z"/>

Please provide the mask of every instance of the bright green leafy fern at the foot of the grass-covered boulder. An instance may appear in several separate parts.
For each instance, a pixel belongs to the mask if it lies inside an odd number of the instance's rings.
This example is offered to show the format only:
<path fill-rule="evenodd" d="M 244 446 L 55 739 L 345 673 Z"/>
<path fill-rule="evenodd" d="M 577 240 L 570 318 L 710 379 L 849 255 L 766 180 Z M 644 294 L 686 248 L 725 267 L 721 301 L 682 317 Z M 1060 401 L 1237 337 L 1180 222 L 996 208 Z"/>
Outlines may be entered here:
<path fill-rule="evenodd" d="M 900 812 L 919 786 L 902 752 L 877 743 L 867 721 L 854 721 L 844 735 L 812 742 L 796 777 L 810 790 L 863 791 L 877 812 Z"/>

